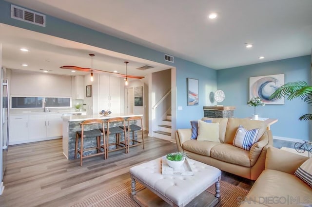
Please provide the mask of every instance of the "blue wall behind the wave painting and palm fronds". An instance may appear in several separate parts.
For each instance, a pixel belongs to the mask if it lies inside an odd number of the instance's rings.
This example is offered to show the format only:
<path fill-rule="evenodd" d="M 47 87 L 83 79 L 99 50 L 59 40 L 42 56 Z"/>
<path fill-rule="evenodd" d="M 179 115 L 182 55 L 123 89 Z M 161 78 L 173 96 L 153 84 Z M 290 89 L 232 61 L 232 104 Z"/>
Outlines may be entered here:
<path fill-rule="evenodd" d="M 306 81 L 311 85 L 311 55 L 217 70 L 217 88 L 225 93 L 222 104 L 235 106 L 235 117 L 250 117 L 254 107 L 247 104 L 249 77 L 274 74 L 285 74 L 285 83 Z M 310 121 L 298 120 L 311 113 L 311 106 L 300 99 L 285 99 L 284 105 L 258 106 L 256 111 L 259 117 L 278 119 L 271 126 L 273 136 L 311 140 Z"/>

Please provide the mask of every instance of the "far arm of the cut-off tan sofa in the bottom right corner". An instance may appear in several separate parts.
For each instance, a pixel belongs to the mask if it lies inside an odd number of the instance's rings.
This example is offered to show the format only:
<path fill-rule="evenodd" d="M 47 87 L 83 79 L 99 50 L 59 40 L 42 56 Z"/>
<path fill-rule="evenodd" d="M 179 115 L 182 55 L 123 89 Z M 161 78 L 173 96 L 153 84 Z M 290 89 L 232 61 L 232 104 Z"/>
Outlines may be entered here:
<path fill-rule="evenodd" d="M 309 157 L 269 147 L 265 159 L 265 169 L 293 174 L 307 159 Z"/>

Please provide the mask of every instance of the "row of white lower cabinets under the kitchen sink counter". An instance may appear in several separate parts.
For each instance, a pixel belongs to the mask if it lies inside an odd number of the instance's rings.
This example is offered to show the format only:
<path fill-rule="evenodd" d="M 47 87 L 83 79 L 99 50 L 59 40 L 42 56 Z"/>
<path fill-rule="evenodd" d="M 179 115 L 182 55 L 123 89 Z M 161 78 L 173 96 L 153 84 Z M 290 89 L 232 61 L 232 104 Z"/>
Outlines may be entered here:
<path fill-rule="evenodd" d="M 62 136 L 61 114 L 10 117 L 10 145 L 48 140 L 60 136 Z"/>

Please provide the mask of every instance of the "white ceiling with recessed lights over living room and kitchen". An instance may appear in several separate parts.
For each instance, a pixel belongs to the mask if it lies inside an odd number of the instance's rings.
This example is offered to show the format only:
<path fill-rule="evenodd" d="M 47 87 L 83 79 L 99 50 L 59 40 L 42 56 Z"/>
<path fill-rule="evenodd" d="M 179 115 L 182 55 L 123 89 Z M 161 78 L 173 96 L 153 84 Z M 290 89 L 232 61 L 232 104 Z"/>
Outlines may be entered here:
<path fill-rule="evenodd" d="M 213 69 L 297 57 L 312 52 L 312 0 L 8 1 Z M 216 12 L 218 17 L 208 19 L 211 12 Z M 7 35 L 21 38 L 19 33 Z M 57 61 L 58 66 L 73 65 L 70 62 L 74 61 L 73 58 L 76 66 L 90 68 L 89 51 L 100 54 L 93 60 L 93 68 L 97 69 L 108 70 L 119 64 L 117 70 L 125 70 L 124 59 L 132 60 L 132 57 L 122 54 L 61 41 L 57 37 L 41 36 L 44 37 L 36 37 L 29 42 L 34 46 L 33 51 L 40 52 L 44 58 L 33 57 L 31 52 L 28 55 L 32 56 L 29 59 L 44 62 L 45 65 L 40 66 L 42 68 L 53 61 Z M 6 52 L 10 48 L 20 47 L 17 43 L 23 41 L 16 39 L 12 39 L 11 44 L 3 45 L 3 62 L 6 64 L 12 62 L 13 65 L 13 62 L 20 60 L 16 51 Z M 254 47 L 246 49 L 245 43 L 252 43 Z M 48 51 L 44 50 L 47 46 L 50 48 Z M 259 56 L 265 58 L 260 60 Z M 128 65 L 128 69 L 132 67 L 130 71 L 133 74 L 138 74 L 135 65 L 154 64 L 159 70 L 168 68 L 141 59 L 133 61 L 132 66 L 130 61 Z"/>

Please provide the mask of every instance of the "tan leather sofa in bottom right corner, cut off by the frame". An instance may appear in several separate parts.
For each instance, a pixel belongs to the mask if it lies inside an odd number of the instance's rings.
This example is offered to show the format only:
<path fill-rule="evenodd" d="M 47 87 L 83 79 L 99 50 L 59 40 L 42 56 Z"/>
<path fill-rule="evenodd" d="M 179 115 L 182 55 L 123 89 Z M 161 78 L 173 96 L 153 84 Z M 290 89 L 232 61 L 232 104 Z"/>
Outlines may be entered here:
<path fill-rule="evenodd" d="M 312 206 L 312 188 L 293 173 L 308 157 L 274 147 L 267 150 L 265 170 L 240 207 Z"/>

